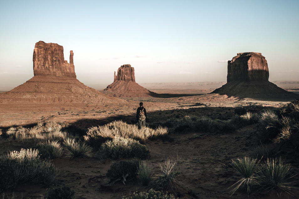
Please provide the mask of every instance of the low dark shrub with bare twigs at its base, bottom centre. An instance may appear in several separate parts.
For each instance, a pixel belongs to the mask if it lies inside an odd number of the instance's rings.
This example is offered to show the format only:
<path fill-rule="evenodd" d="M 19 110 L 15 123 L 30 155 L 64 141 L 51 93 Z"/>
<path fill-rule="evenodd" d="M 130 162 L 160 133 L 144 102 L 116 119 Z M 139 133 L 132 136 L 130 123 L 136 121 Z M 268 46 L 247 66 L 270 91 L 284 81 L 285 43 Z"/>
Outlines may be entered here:
<path fill-rule="evenodd" d="M 112 183 L 123 180 L 123 184 L 125 184 L 126 181 L 132 180 L 136 177 L 138 165 L 139 162 L 136 160 L 121 160 L 113 163 L 106 175 L 110 178 L 110 182 Z"/>

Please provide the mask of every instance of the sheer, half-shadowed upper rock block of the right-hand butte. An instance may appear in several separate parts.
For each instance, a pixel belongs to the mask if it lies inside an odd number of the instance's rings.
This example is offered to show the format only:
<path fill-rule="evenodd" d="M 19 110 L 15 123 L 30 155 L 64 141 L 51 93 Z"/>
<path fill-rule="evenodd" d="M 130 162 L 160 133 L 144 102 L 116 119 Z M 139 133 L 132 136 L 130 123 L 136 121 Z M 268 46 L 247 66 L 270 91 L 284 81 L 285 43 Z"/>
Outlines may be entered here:
<path fill-rule="evenodd" d="M 228 61 L 227 82 L 231 81 L 268 81 L 267 60 L 261 53 L 238 53 Z"/>

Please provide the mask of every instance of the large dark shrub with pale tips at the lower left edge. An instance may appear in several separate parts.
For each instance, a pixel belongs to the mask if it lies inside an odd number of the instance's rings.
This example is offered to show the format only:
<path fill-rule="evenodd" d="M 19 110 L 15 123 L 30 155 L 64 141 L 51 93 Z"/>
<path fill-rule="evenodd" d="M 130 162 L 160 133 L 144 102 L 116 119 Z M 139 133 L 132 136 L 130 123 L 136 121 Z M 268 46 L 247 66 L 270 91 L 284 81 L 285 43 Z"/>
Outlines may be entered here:
<path fill-rule="evenodd" d="M 11 151 L 0 159 L 0 187 L 7 189 L 18 183 L 51 184 L 58 171 L 49 160 L 39 158 L 37 149 Z"/>

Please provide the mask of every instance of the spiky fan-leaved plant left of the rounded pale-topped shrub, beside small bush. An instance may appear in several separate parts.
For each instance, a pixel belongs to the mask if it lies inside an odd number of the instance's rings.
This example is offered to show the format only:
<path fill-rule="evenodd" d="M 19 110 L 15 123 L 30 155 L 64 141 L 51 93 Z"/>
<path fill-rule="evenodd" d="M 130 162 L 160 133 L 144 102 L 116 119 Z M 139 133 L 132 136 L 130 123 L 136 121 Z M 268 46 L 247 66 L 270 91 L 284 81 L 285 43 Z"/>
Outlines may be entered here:
<path fill-rule="evenodd" d="M 67 138 L 63 142 L 65 148 L 65 156 L 66 158 L 76 158 L 76 157 L 91 157 L 92 156 L 92 148 L 88 146 L 86 143 L 78 141 L 75 139 Z"/>

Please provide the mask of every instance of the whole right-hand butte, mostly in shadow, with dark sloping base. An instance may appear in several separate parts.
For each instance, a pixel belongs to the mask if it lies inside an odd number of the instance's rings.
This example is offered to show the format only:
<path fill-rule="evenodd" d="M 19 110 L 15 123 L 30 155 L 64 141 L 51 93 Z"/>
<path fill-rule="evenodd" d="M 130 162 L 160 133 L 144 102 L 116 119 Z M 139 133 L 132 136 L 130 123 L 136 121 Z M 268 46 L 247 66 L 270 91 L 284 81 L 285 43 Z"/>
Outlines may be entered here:
<path fill-rule="evenodd" d="M 298 98 L 269 81 L 267 60 L 261 53 L 238 53 L 228 61 L 227 83 L 212 93 L 229 97 Z"/>

